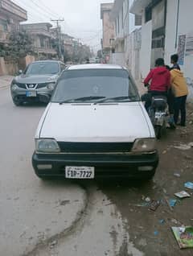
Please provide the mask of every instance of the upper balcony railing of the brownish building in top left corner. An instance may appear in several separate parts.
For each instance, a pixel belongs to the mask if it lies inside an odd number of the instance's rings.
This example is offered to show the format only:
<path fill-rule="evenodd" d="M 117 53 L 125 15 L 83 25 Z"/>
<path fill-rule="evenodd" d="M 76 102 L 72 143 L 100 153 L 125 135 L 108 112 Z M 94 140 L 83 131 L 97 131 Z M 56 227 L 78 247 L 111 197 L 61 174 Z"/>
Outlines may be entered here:
<path fill-rule="evenodd" d="M 19 21 L 27 20 L 27 10 L 24 10 L 10 0 L 0 0 L 0 7 L 2 11 L 8 12 L 16 16 Z"/>

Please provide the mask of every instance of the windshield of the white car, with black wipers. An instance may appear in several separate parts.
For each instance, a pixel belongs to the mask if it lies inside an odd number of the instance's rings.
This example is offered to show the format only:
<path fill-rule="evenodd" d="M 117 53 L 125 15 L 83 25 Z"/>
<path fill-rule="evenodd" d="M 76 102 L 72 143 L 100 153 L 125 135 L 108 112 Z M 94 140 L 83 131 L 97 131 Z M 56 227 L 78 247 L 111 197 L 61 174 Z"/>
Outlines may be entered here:
<path fill-rule="evenodd" d="M 138 89 L 124 69 L 67 70 L 51 98 L 60 104 L 139 100 Z"/>

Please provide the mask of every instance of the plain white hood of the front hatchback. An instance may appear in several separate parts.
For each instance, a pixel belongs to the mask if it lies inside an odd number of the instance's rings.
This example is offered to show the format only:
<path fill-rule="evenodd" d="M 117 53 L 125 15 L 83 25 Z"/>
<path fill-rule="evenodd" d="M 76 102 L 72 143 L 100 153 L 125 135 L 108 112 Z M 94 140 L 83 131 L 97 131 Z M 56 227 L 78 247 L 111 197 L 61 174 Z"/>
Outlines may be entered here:
<path fill-rule="evenodd" d="M 61 142 L 133 142 L 154 137 L 150 118 L 141 103 L 75 105 L 50 103 L 36 138 Z"/>

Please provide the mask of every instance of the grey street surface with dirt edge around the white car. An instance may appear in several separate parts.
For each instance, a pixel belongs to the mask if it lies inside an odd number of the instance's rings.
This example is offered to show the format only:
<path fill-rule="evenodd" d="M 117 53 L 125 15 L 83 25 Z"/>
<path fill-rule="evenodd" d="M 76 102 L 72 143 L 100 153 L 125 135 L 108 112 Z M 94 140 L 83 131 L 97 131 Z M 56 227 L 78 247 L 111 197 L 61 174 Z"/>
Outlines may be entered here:
<path fill-rule="evenodd" d="M 174 225 L 193 224 L 192 199 L 174 209 L 166 204 L 174 192 L 184 189 L 185 181 L 193 181 L 192 149 L 173 147 L 193 141 L 191 125 L 168 132 L 158 142 L 161 163 L 148 183 L 43 182 L 34 174 L 31 155 L 44 109 L 44 105 L 15 107 L 9 89 L 0 90 L 0 255 L 193 254 L 179 250 L 170 231 Z M 155 212 L 146 206 L 146 197 L 161 200 Z"/>

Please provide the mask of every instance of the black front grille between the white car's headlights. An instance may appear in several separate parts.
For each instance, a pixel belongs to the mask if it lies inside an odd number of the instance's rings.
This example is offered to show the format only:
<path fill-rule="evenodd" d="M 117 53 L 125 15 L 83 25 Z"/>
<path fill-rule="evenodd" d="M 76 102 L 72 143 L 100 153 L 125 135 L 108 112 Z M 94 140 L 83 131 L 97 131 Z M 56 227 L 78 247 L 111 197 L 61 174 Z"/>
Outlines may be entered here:
<path fill-rule="evenodd" d="M 116 153 L 130 152 L 133 142 L 58 142 L 62 152 Z"/>

